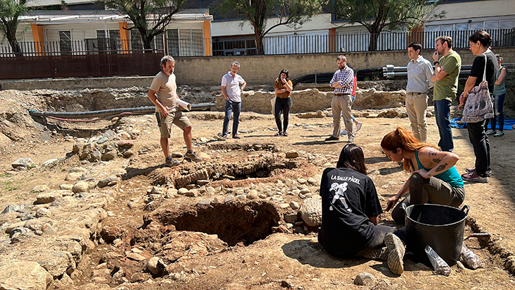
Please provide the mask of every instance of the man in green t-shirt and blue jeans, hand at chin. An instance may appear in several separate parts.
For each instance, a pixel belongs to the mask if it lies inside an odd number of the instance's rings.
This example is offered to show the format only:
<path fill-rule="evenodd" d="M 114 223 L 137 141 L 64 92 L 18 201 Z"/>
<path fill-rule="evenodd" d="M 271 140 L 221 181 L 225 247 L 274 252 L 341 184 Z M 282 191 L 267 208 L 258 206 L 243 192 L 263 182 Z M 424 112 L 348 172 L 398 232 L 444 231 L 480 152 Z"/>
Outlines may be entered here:
<path fill-rule="evenodd" d="M 435 82 L 432 100 L 435 104 L 436 124 L 440 133 L 438 146 L 442 151 L 452 152 L 454 142 L 450 120 L 451 104 L 458 92 L 461 57 L 452 50 L 452 38 L 449 36 L 437 37 L 435 49 L 436 52 L 432 54 L 432 59 L 435 60 L 435 72 L 432 74 L 431 81 Z"/>

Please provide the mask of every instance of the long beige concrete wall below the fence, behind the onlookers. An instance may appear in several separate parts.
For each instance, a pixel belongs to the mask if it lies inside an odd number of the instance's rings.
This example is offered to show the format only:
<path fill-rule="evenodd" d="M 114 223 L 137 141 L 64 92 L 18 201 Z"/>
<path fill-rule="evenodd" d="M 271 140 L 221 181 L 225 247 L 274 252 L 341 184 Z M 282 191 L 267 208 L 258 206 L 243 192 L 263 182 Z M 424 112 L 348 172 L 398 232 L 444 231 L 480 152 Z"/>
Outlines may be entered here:
<path fill-rule="evenodd" d="M 494 49 L 502 54 L 505 64 L 515 63 L 515 47 Z M 432 62 L 434 49 L 426 49 L 423 56 Z M 468 49 L 457 49 L 463 64 L 472 64 L 474 55 Z M 256 85 L 272 85 L 283 68 L 290 72 L 290 78 L 317 73 L 334 73 L 337 70 L 336 58 L 339 54 L 289 54 L 275 56 L 211 56 L 182 57 L 177 59 L 177 83 L 183 85 L 216 85 L 221 83 L 222 75 L 229 71 L 232 61 L 239 61 L 238 72 L 246 82 Z M 387 64 L 406 66 L 408 54 L 396 52 L 353 52 L 346 53 L 349 64 L 358 70 L 379 68 Z"/>

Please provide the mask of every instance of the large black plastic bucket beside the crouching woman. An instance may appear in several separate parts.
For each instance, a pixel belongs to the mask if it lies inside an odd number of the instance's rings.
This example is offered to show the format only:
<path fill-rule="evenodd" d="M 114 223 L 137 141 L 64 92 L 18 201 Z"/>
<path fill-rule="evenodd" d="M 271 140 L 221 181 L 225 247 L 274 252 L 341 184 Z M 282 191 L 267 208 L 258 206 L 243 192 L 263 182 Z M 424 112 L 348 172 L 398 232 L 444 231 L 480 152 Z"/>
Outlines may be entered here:
<path fill-rule="evenodd" d="M 456 264 L 463 245 L 465 219 L 470 207 L 461 210 L 447 205 L 410 205 L 406 208 L 406 253 L 430 265 L 425 246 L 429 245 L 449 266 Z"/>

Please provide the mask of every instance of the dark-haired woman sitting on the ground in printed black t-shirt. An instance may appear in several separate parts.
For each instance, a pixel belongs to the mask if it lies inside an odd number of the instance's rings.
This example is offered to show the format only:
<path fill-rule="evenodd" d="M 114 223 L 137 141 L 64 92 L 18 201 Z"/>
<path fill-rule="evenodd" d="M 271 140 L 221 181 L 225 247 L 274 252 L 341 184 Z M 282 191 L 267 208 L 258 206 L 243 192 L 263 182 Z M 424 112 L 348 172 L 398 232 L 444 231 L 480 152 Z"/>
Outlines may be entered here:
<path fill-rule="evenodd" d="M 356 144 L 345 145 L 337 167 L 322 174 L 318 242 L 327 253 L 340 258 L 387 260 L 390 270 L 401 274 L 404 243 L 399 236 L 404 238 L 404 234 L 391 226 L 377 225 L 382 208 L 374 182 L 366 175 L 363 150 Z"/>

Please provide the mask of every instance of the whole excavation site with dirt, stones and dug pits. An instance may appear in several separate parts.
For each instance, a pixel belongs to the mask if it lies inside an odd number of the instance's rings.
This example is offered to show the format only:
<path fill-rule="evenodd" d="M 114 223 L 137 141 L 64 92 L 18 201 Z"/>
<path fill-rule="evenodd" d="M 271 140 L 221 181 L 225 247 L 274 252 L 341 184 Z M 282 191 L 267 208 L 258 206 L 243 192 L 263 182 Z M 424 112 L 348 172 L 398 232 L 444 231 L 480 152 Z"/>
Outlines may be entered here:
<path fill-rule="evenodd" d="M 405 83 L 375 83 L 358 90 L 352 113 L 363 127 L 354 143 L 383 209 L 379 224 L 401 227 L 385 209 L 410 174 L 380 143 L 396 127 L 410 128 Z M 0 90 L 0 289 L 515 286 L 515 181 L 506 177 L 515 167 L 513 131 L 490 139 L 489 183 L 465 183 L 464 238 L 489 236 L 463 243 L 483 267 L 456 264 L 444 276 L 406 255 L 398 275 L 384 260 L 337 258 L 318 242 L 322 172 L 337 166 L 347 144 L 346 137 L 325 142 L 333 131 L 332 92 L 294 90 L 285 136 L 276 135 L 270 113 L 273 88 L 249 87 L 241 138 L 231 138 L 231 120 L 225 140 L 219 87 L 178 90 L 201 104 L 184 114 L 202 161 L 187 158 L 183 131 L 174 125 L 174 167 L 165 165 L 147 87 Z M 140 107 L 151 108 L 131 110 Z M 105 114 L 91 114 L 98 111 Z M 432 104 L 427 119 L 428 142 L 437 144 Z M 466 129 L 452 133 L 461 172 L 473 167 L 474 153 Z"/>

